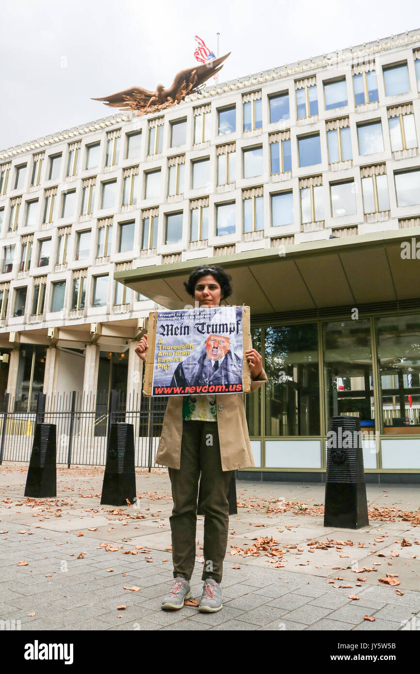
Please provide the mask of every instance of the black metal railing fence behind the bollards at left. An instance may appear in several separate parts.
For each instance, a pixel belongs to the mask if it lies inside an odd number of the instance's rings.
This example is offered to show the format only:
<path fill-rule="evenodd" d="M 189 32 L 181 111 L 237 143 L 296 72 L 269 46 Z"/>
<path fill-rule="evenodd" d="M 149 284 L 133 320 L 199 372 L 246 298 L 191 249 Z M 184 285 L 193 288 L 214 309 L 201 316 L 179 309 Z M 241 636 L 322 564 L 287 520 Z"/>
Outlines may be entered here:
<path fill-rule="evenodd" d="M 134 427 L 135 464 L 154 468 L 167 398 L 128 398 L 119 391 L 98 394 L 71 391 L 45 396 L 39 393 L 36 409 L 16 412 L 9 394 L 0 400 L 0 464 L 29 461 L 36 423 L 57 426 L 57 464 L 104 466 L 111 423 Z"/>

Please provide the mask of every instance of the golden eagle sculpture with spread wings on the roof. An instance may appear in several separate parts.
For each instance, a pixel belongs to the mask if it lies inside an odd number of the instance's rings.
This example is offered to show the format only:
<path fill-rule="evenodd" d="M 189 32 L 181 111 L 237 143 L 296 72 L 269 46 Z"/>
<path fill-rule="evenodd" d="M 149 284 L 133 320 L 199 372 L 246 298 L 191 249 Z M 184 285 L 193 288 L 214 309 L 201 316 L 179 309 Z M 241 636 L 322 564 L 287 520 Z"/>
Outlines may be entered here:
<path fill-rule="evenodd" d="M 104 96 L 104 98 L 92 98 L 92 100 L 101 100 L 110 108 L 119 108 L 120 110 L 135 110 L 135 115 L 147 115 L 156 113 L 165 108 L 171 108 L 177 105 L 181 100 L 197 90 L 198 87 L 211 78 L 222 68 L 221 63 L 230 55 L 226 54 L 213 61 L 208 61 L 202 65 L 193 66 L 181 70 L 169 89 L 165 89 L 162 84 L 158 84 L 156 91 L 148 91 L 141 86 L 133 86 L 131 89 L 125 89 L 118 94 Z"/>

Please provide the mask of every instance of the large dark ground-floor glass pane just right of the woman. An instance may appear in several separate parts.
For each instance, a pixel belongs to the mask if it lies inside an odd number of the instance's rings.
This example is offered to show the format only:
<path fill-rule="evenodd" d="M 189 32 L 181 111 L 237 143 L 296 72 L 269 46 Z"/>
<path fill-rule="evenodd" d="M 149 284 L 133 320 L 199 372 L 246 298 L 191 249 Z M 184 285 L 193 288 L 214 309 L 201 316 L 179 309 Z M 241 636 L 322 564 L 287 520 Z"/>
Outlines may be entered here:
<path fill-rule="evenodd" d="M 316 324 L 266 328 L 266 435 L 318 435 L 320 389 Z"/>

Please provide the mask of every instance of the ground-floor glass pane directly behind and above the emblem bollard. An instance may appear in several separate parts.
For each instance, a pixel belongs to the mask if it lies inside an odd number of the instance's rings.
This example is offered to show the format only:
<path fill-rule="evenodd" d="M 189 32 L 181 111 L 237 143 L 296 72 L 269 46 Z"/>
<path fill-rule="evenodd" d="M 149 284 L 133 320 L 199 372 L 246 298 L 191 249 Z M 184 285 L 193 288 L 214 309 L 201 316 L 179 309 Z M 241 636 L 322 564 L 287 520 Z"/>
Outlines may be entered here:
<path fill-rule="evenodd" d="M 340 415 L 370 422 L 374 407 L 369 321 L 337 321 L 323 328 L 326 424 Z"/>

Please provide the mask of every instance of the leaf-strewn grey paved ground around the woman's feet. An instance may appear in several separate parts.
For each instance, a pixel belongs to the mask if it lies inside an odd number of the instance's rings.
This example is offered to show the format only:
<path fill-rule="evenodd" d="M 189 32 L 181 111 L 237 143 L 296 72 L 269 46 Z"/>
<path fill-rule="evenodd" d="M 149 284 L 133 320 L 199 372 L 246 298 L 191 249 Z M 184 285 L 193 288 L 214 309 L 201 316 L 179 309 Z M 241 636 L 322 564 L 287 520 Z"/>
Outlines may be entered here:
<path fill-rule="evenodd" d="M 0 621 L 6 621 L 6 626 L 14 620 L 20 621 L 16 625 L 21 630 L 370 631 L 402 630 L 407 625 L 420 630 L 420 546 L 415 544 L 420 527 L 411 522 L 372 521 L 358 531 L 335 530 L 324 528 L 322 516 L 291 510 L 268 515 L 266 507 L 239 508 L 238 516 L 230 518 L 222 611 L 202 614 L 189 606 L 162 611 L 160 598 L 173 578 L 171 551 L 166 549 L 171 547 L 168 517 L 172 508 L 166 470 L 151 474 L 137 470 L 140 508 L 117 510 L 100 506 L 103 468 L 59 468 L 57 500 L 40 499 L 29 505 L 23 497 L 26 470 L 24 464 L 0 466 Z M 310 505 L 323 502 L 324 487 L 239 482 L 237 491 L 239 501 L 245 499 L 248 504 L 283 498 Z M 370 505 L 419 508 L 417 487 L 367 485 L 367 493 Z M 191 578 L 192 595 L 198 601 L 202 535 L 200 517 L 198 557 Z M 284 568 L 273 568 L 264 554 L 229 554 L 231 545 L 249 546 L 251 539 L 260 536 L 272 536 L 282 548 L 296 545 L 284 555 Z M 351 540 L 355 547 L 307 553 L 309 541 L 327 539 Z M 402 547 L 395 542 L 402 539 L 412 545 Z M 117 550 L 107 551 L 101 543 Z M 356 547 L 357 543 L 367 547 Z M 123 554 L 135 551 L 136 546 L 137 554 Z M 398 551 L 398 557 L 391 550 Z M 28 564 L 18 566 L 22 560 Z M 374 561 L 378 572 L 355 574 L 346 568 L 353 562 L 360 568 L 373 568 Z M 233 569 L 235 565 L 240 568 Z M 386 573 L 398 574 L 397 588 L 378 581 Z M 366 581 L 355 586 L 360 575 Z M 334 578 L 342 580 L 334 586 L 326 582 Z M 124 589 L 132 586 L 140 590 Z M 396 594 L 396 589 L 404 594 Z M 349 594 L 359 599 L 351 600 Z M 121 605 L 126 608 L 117 609 Z M 375 621 L 363 620 L 365 615 Z"/>

